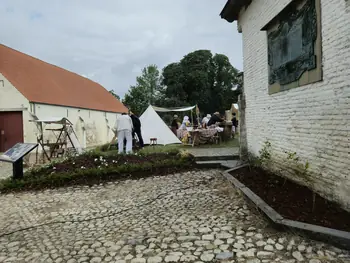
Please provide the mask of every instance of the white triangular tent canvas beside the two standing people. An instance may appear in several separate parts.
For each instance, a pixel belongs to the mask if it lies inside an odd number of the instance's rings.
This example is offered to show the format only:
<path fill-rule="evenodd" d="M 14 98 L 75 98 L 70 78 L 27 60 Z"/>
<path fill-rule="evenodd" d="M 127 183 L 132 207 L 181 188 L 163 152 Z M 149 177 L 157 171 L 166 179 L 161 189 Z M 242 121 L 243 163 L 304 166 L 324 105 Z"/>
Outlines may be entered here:
<path fill-rule="evenodd" d="M 161 145 L 181 144 L 181 141 L 164 123 L 152 106 L 148 106 L 147 110 L 141 115 L 140 121 L 142 138 L 145 144 L 149 144 L 151 138 L 157 138 L 158 144 Z"/>

